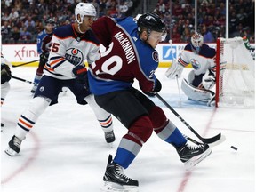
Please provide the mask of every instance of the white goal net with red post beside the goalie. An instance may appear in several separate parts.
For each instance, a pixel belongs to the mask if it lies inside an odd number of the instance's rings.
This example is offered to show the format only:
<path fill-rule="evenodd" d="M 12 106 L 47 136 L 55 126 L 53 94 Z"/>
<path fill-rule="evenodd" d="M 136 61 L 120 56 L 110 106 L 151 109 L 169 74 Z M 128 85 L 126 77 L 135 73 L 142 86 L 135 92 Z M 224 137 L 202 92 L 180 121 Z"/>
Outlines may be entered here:
<path fill-rule="evenodd" d="M 218 38 L 216 107 L 254 108 L 255 64 L 242 37 Z"/>

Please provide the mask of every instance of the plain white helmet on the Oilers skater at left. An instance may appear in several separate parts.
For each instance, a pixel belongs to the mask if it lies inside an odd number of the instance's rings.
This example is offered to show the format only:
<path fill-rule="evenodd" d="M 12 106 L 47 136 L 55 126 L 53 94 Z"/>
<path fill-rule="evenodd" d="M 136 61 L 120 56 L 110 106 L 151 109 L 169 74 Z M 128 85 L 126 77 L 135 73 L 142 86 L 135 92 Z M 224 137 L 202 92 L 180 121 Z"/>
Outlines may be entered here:
<path fill-rule="evenodd" d="M 75 16 L 76 21 L 81 24 L 84 20 L 84 16 L 91 16 L 94 17 L 93 20 L 96 19 L 96 9 L 92 4 L 88 3 L 79 3 L 76 5 L 75 8 Z M 81 20 L 78 20 L 78 15 L 80 15 Z"/>

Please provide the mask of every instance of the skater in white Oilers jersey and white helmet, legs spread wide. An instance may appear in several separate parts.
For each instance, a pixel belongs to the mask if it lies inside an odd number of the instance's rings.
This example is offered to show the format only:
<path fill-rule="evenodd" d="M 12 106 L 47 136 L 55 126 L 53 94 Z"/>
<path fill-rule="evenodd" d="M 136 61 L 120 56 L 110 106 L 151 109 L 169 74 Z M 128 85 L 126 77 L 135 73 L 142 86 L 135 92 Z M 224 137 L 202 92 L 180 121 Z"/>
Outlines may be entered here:
<path fill-rule="evenodd" d="M 54 31 L 44 76 L 38 84 L 34 99 L 21 114 L 9 147 L 5 150 L 9 156 L 20 152 L 21 141 L 26 138 L 44 110 L 49 105 L 58 103 L 62 87 L 68 87 L 74 93 L 77 103 L 88 103 L 100 122 L 106 141 L 111 143 L 115 140 L 111 115 L 97 105 L 94 96 L 86 87 L 87 69 L 84 60 L 92 63 L 100 58 L 100 43 L 90 29 L 96 17 L 96 10 L 92 4 L 79 3 L 76 5 L 75 15 L 75 24 Z"/>

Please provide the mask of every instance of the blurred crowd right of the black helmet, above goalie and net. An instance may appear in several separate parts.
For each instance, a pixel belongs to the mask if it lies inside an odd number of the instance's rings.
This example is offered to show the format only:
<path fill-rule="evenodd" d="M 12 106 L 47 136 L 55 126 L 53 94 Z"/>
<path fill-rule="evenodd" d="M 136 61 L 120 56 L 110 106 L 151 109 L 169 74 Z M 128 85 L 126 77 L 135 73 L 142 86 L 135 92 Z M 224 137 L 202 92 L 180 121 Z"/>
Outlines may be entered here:
<path fill-rule="evenodd" d="M 228 9 L 228 37 L 247 36 L 255 43 L 254 0 L 229 0 Z M 172 0 L 171 5 L 170 0 L 158 0 L 154 12 L 161 15 L 169 27 L 166 42 L 171 34 L 173 43 L 187 43 L 195 32 L 195 0 Z M 197 0 L 196 19 L 197 32 L 204 36 L 205 43 L 226 37 L 226 0 Z"/>

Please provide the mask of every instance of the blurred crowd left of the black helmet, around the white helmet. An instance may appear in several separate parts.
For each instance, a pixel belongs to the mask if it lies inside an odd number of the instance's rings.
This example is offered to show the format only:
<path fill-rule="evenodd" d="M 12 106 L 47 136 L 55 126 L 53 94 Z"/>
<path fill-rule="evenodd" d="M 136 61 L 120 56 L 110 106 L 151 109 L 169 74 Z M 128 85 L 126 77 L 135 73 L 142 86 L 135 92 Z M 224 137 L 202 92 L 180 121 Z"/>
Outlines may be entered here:
<path fill-rule="evenodd" d="M 4 0 L 1 1 L 3 44 L 36 44 L 45 21 L 53 18 L 57 26 L 75 22 L 74 10 L 81 0 Z M 132 0 L 91 0 L 98 17 L 124 17 Z"/>

